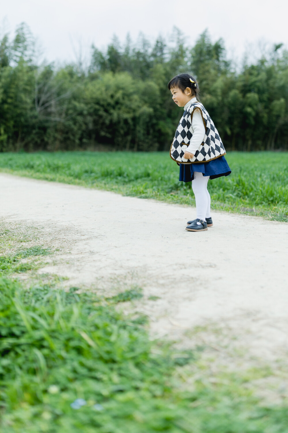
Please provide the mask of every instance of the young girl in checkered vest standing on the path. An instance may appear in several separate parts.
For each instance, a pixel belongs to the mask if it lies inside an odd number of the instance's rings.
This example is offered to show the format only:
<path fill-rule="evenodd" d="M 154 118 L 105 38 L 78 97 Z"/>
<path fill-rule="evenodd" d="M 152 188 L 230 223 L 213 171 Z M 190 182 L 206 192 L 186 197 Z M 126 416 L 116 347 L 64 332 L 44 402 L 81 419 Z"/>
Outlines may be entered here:
<path fill-rule="evenodd" d="M 196 219 L 188 221 L 186 230 L 203 232 L 212 227 L 209 179 L 231 173 L 223 155 L 224 146 L 217 129 L 202 103 L 198 102 L 199 87 L 189 74 L 179 74 L 168 83 L 172 99 L 184 107 L 170 149 L 171 158 L 180 165 L 179 181 L 191 182 L 196 200 Z"/>

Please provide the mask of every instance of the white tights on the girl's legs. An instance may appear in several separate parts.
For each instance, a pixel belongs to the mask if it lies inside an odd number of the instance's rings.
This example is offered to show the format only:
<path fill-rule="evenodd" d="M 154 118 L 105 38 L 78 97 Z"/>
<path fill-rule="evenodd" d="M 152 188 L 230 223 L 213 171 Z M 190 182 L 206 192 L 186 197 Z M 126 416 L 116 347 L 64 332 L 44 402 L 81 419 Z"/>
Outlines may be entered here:
<path fill-rule="evenodd" d="M 211 217 L 211 198 L 207 189 L 209 177 L 210 176 L 203 176 L 203 173 L 194 171 L 194 179 L 192 181 L 192 189 L 196 200 L 196 218 L 203 221 Z"/>

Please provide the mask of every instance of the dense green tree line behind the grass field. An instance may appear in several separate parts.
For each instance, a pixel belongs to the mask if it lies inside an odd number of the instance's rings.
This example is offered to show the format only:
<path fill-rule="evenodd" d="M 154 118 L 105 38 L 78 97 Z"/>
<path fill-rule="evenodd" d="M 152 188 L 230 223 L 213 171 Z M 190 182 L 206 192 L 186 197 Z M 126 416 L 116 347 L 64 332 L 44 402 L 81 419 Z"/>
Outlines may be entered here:
<path fill-rule="evenodd" d="M 201 102 L 226 149 L 288 149 L 288 51 L 282 44 L 235 68 L 222 39 L 207 31 L 188 46 L 174 29 L 169 42 L 114 37 L 89 64 L 38 64 L 22 23 L 0 40 L 0 151 L 167 150 L 182 111 L 168 81 L 196 77 Z"/>

